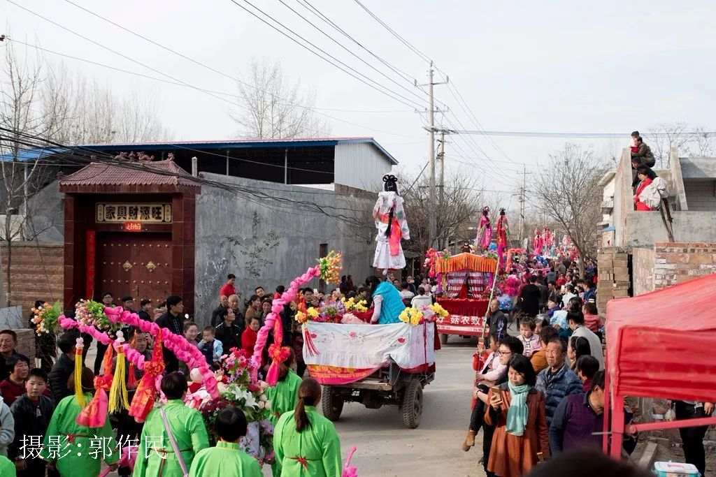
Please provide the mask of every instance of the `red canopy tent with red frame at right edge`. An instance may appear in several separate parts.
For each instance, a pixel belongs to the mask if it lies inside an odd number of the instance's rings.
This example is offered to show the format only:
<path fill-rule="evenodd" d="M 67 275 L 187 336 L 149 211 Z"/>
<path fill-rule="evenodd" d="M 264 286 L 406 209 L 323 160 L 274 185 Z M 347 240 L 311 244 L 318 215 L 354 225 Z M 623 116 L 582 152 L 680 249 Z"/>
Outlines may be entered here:
<path fill-rule="evenodd" d="M 606 323 L 604 429 L 611 428 L 610 453 L 619 458 L 624 396 L 715 400 L 716 275 L 611 300 Z M 716 424 L 716 417 L 643 423 L 630 431 L 707 424 Z M 604 451 L 609 451 L 606 434 Z"/>

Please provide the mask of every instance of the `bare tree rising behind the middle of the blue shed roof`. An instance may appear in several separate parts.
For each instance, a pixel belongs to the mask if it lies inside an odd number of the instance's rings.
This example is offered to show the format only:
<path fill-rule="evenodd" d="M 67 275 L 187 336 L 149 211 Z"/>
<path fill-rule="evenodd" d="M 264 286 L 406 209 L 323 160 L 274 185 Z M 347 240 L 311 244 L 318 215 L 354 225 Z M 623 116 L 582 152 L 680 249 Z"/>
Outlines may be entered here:
<path fill-rule="evenodd" d="M 250 86 L 246 86 L 246 84 Z M 241 109 L 230 114 L 238 135 L 256 139 L 315 137 L 330 132 L 316 117 L 316 93 L 284 77 L 281 63 L 252 58 L 248 75 L 236 85 Z"/>

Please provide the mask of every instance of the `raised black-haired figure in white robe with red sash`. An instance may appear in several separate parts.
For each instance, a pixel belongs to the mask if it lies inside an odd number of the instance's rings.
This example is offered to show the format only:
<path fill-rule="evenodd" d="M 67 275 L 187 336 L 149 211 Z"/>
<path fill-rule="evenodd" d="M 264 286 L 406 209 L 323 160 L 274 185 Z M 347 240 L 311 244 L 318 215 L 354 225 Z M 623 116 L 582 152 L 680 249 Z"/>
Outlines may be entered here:
<path fill-rule="evenodd" d="M 373 219 L 378 229 L 373 266 L 387 274 L 388 270 L 405 268 L 400 240 L 410 240 L 410 229 L 405 219 L 403 199 L 398 195 L 397 179 L 387 174 L 383 182 L 383 192 L 378 192 L 378 200 L 373 207 Z"/>

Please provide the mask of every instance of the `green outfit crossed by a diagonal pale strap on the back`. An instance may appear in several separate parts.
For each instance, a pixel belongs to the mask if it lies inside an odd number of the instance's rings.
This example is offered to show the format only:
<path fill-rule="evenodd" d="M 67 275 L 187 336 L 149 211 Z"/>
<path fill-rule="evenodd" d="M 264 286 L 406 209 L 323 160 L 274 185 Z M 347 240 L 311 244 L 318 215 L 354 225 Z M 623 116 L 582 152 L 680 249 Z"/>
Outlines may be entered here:
<path fill-rule="evenodd" d="M 168 400 L 163 408 L 155 408 L 147 415 L 132 474 L 134 477 L 183 476 L 164 427 L 161 409 L 167 415 L 169 427 L 177 441 L 187 470 L 191 468 L 196 453 L 209 446 L 209 438 L 199 411 L 188 408 L 180 399 Z"/>

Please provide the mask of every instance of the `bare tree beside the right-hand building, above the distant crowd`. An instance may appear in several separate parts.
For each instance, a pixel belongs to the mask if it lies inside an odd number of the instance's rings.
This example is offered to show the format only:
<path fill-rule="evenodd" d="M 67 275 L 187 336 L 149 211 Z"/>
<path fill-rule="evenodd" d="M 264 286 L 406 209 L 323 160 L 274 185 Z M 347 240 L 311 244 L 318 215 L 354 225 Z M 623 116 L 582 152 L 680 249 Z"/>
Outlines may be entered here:
<path fill-rule="evenodd" d="M 581 257 L 596 252 L 596 228 L 601 221 L 598 184 L 603 173 L 591 149 L 566 144 L 550 155 L 548 167 L 535 176 L 534 207 L 571 237 Z M 579 262 L 579 272 L 584 277 L 584 260 Z"/>

